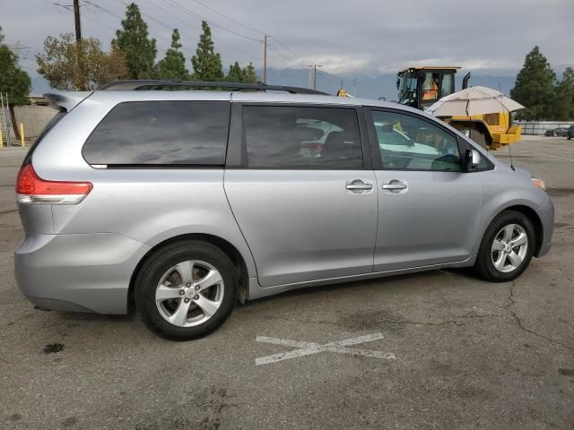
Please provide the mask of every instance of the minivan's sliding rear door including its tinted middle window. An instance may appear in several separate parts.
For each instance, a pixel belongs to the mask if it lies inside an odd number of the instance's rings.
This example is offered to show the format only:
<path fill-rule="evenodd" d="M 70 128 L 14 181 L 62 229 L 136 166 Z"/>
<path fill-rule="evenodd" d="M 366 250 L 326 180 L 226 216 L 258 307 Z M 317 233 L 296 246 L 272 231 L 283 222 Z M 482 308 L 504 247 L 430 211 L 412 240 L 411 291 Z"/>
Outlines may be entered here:
<path fill-rule="evenodd" d="M 356 109 L 234 112 L 243 120 L 244 164 L 226 168 L 224 186 L 260 285 L 370 273 L 378 195 L 373 170 L 363 169 Z"/>

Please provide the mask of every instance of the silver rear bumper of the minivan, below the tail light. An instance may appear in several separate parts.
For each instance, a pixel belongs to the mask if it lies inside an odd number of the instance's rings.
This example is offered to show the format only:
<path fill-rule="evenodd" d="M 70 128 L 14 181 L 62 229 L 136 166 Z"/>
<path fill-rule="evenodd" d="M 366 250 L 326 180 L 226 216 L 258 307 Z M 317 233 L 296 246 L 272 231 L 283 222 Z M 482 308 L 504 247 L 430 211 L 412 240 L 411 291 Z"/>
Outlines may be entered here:
<path fill-rule="evenodd" d="M 14 274 L 39 307 L 126 314 L 132 274 L 149 249 L 114 233 L 30 234 L 14 253 Z"/>

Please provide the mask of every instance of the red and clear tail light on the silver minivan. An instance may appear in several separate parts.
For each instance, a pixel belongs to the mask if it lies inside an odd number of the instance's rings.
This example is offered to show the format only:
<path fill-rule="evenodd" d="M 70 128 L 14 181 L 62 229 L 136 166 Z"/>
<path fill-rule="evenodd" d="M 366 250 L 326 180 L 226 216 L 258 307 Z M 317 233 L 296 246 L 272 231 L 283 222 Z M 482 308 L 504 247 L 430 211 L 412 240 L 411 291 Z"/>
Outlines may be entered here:
<path fill-rule="evenodd" d="M 91 192 L 90 182 L 47 181 L 39 177 L 31 163 L 22 166 L 16 179 L 20 203 L 76 204 Z"/>

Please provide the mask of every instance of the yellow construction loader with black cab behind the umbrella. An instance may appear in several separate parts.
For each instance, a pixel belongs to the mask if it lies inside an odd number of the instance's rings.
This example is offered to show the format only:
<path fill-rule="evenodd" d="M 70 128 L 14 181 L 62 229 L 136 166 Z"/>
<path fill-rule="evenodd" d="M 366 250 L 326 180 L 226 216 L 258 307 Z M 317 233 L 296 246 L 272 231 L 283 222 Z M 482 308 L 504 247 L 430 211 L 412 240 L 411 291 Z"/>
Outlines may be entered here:
<path fill-rule="evenodd" d="M 455 92 L 457 66 L 408 67 L 396 74 L 398 103 L 425 109 L 435 101 Z M 468 86 L 470 73 L 463 78 L 463 90 Z M 474 142 L 489 150 L 498 150 L 502 145 L 520 140 L 522 129 L 510 125 L 509 112 L 475 116 L 451 116 L 445 122 L 457 130 L 467 133 Z"/>

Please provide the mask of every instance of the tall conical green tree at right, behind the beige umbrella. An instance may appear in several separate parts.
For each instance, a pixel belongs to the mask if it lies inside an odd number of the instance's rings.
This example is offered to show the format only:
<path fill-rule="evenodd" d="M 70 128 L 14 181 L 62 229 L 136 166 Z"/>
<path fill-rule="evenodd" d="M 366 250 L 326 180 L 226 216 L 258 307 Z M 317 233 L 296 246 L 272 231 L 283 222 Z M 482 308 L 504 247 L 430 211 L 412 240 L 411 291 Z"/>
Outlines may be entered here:
<path fill-rule="evenodd" d="M 510 90 L 510 97 L 526 107 L 518 111 L 517 117 L 527 121 L 552 119 L 555 81 L 556 75 L 548 60 L 539 47 L 534 47 L 526 55 L 517 82 Z"/>

